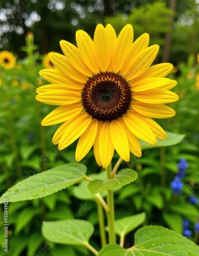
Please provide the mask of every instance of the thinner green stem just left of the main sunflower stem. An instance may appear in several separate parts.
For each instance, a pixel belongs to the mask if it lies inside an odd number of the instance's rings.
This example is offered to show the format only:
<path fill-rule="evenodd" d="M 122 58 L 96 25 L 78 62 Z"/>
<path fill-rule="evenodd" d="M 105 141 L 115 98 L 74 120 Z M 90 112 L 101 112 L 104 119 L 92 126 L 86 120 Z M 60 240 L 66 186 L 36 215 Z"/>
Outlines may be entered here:
<path fill-rule="evenodd" d="M 97 204 L 97 212 L 98 212 L 98 220 L 99 220 L 99 231 L 100 231 L 100 240 L 101 246 L 104 247 L 106 245 L 106 232 L 105 232 L 105 224 L 104 224 L 104 211 L 99 200 L 96 200 Z"/>

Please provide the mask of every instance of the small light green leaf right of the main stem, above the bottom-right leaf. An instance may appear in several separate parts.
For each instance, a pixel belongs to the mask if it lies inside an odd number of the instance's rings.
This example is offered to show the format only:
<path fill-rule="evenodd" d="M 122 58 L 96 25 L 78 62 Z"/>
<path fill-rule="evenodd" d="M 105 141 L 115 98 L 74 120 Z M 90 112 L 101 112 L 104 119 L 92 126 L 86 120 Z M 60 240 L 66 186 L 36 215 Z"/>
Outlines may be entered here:
<path fill-rule="evenodd" d="M 146 219 L 145 212 L 115 221 L 115 232 L 120 237 L 140 226 Z"/>

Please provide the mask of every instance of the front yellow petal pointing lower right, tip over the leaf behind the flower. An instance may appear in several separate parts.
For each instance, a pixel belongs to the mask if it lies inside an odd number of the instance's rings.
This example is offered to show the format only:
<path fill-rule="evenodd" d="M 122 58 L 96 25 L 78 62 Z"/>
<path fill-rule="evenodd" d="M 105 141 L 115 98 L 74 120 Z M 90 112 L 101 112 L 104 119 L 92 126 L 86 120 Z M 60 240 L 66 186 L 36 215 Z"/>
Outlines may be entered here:
<path fill-rule="evenodd" d="M 156 136 L 154 136 L 153 132 L 149 129 L 147 123 L 136 115 L 134 110 L 129 110 L 127 114 L 124 114 L 123 119 L 131 133 L 147 143 L 152 145 L 157 144 Z"/>

